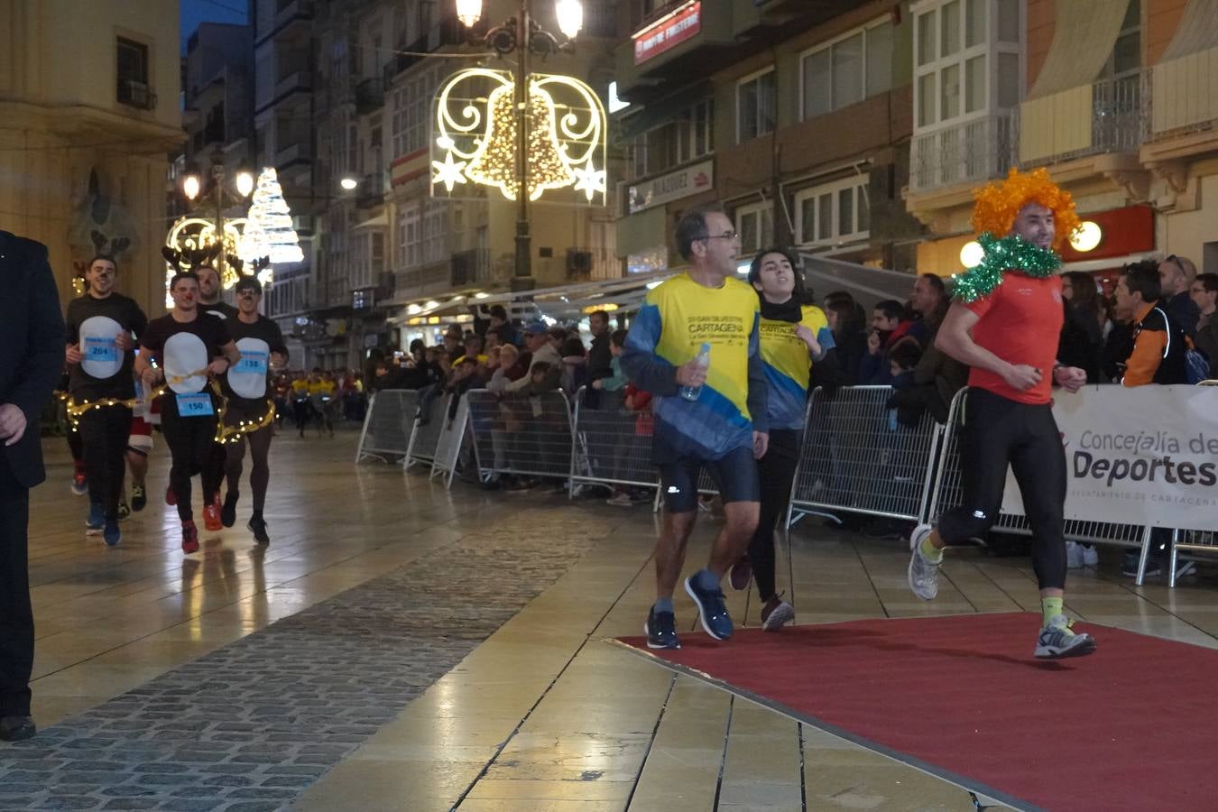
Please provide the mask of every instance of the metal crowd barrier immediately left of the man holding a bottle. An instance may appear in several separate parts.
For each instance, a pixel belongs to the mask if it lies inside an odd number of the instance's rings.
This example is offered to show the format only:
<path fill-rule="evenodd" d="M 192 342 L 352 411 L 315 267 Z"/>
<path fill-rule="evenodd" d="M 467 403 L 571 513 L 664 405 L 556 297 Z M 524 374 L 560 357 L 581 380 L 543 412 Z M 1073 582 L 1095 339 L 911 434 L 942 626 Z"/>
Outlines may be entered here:
<path fill-rule="evenodd" d="M 626 408 L 624 392 L 575 393 L 571 491 L 575 485 L 621 485 L 659 491 L 652 466 L 652 413 Z"/>

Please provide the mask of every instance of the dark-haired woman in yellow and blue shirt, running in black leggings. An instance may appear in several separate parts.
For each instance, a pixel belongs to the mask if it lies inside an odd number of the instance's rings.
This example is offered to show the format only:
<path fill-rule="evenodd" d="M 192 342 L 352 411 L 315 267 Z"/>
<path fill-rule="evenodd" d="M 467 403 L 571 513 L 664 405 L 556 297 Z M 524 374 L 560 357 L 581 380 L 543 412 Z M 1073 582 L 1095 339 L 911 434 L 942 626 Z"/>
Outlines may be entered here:
<path fill-rule="evenodd" d="M 795 618 L 795 609 L 775 584 L 775 527 L 790 503 L 799 452 L 804 443 L 808 391 L 814 365 L 833 364 L 833 332 L 821 308 L 811 303 L 789 251 L 770 248 L 749 265 L 749 284 L 761 308 L 760 354 L 767 386 L 770 442 L 758 459 L 761 506 L 748 553 L 732 566 L 731 583 L 747 589 L 756 578 L 761 628 L 777 632 Z"/>

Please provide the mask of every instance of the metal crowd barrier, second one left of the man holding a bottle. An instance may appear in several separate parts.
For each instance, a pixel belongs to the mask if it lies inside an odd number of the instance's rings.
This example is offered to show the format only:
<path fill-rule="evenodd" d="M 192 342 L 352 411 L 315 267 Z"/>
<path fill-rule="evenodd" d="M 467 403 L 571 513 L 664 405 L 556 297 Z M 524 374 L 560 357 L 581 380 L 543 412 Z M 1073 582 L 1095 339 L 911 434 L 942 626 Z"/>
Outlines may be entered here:
<path fill-rule="evenodd" d="M 465 397 L 480 478 L 571 476 L 571 408 L 563 392 L 525 397 L 470 390 Z"/>

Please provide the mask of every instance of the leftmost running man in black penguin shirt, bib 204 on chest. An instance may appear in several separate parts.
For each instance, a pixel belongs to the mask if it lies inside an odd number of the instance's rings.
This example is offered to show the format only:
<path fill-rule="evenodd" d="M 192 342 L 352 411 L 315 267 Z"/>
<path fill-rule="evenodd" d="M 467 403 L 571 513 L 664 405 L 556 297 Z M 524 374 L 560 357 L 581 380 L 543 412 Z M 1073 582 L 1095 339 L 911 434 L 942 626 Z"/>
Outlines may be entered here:
<path fill-rule="evenodd" d="M 132 425 L 129 402 L 135 397 L 132 334 L 143 335 L 147 326 L 144 310 L 114 292 L 117 273 L 110 257 L 94 257 L 89 263 L 89 290 L 68 304 L 65 352 L 69 409 L 85 409 L 77 426 L 89 483 L 85 532 L 102 533 L 111 547 L 121 541 L 118 511 Z"/>

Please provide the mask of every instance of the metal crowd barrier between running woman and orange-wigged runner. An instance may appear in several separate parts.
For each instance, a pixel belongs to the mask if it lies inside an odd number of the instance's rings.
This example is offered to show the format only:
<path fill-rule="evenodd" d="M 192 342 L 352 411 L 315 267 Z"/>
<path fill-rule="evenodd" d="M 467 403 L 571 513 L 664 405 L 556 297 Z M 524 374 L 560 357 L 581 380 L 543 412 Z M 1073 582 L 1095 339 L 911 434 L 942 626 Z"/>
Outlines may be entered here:
<path fill-rule="evenodd" d="M 943 426 L 923 414 L 916 429 L 885 404 L 890 386 L 854 386 L 808 402 L 804 447 L 792 486 L 788 527 L 809 514 L 857 513 L 923 519 Z"/>

